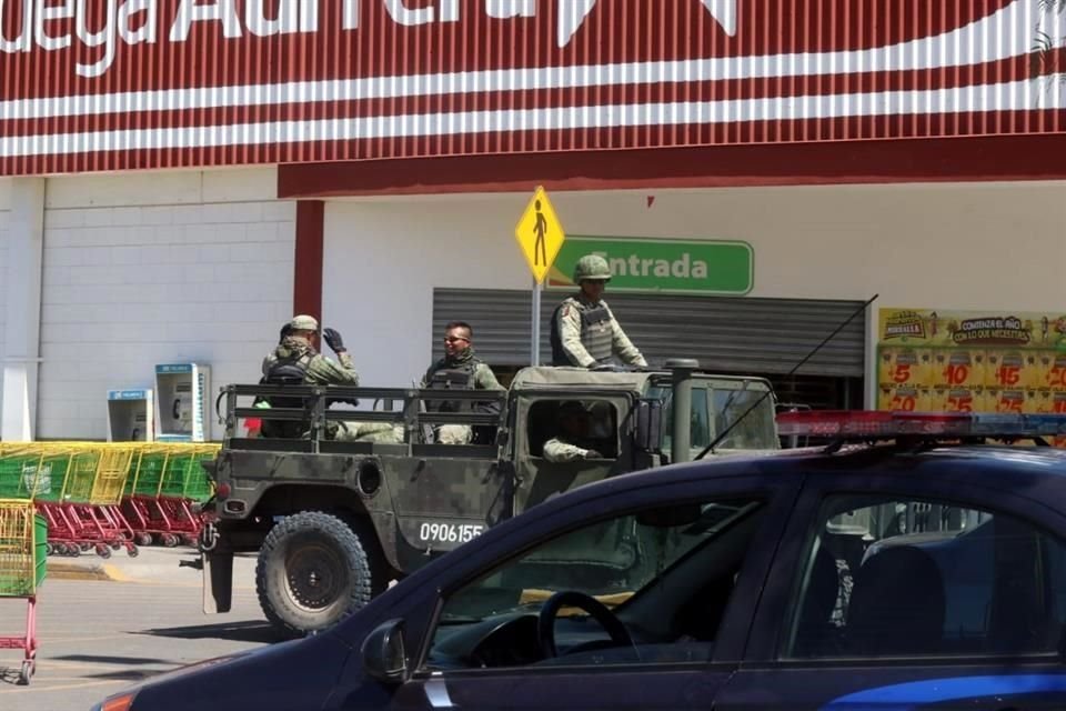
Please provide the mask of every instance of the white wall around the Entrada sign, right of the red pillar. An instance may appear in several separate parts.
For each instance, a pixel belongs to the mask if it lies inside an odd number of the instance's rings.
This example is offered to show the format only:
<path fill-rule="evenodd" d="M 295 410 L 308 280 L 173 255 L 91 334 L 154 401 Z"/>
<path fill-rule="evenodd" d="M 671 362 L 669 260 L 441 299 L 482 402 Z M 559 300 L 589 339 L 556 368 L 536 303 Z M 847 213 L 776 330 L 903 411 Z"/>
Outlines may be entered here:
<path fill-rule="evenodd" d="M 1063 182 L 551 198 L 571 234 L 746 240 L 755 250 L 751 297 L 864 300 L 879 292 L 875 308 L 1066 311 Z M 424 371 L 439 336 L 430 332 L 433 287 L 529 288 L 513 234 L 529 199 L 328 203 L 323 317 L 345 341 L 364 339 L 365 348 L 353 348 L 363 382 L 402 385 Z"/>

